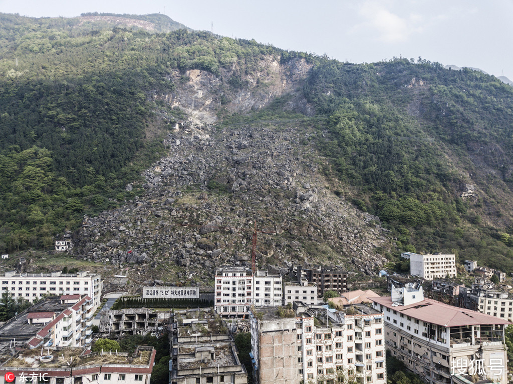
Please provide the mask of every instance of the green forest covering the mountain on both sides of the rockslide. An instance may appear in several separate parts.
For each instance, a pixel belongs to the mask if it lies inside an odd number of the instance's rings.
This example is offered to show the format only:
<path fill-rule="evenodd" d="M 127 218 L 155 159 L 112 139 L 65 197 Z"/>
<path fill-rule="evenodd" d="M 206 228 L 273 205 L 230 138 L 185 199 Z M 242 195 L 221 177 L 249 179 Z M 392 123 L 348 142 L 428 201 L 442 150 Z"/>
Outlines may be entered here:
<path fill-rule="evenodd" d="M 219 124 L 298 119 L 286 104 L 304 97 L 308 140 L 327 180 L 344 186 L 333 192 L 379 218 L 392 253 L 451 252 L 513 271 L 513 88 L 494 76 L 420 57 L 353 65 L 178 29 L 162 15 L 104 16 L 155 28 L 0 14 L 0 250 L 49 249 L 84 214 L 143 193 L 125 186 L 184 118 L 154 95 L 188 81 L 171 73 L 199 69 L 222 79 Z M 230 90 L 247 87 L 265 57 L 304 59 L 304 87 L 229 113 Z"/>

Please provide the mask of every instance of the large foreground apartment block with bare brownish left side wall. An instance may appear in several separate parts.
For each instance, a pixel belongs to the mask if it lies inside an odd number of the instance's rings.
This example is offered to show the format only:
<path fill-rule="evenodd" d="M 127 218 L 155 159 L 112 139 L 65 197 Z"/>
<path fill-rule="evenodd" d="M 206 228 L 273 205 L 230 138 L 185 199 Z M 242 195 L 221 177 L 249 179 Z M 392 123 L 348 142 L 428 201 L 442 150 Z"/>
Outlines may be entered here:
<path fill-rule="evenodd" d="M 337 311 L 309 306 L 282 317 L 276 308 L 250 315 L 253 379 L 257 384 L 386 383 L 383 315 L 358 304 Z M 279 356 L 279 357 L 277 357 Z"/>

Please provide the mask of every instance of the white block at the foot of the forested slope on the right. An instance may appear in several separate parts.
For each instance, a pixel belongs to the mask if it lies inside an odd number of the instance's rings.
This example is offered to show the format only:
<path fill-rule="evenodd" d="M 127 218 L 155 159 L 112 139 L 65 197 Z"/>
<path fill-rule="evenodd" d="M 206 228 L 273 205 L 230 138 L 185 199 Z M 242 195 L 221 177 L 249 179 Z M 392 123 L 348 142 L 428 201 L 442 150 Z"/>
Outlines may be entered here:
<path fill-rule="evenodd" d="M 456 277 L 456 257 L 453 254 L 410 254 L 410 273 L 425 280 Z"/>

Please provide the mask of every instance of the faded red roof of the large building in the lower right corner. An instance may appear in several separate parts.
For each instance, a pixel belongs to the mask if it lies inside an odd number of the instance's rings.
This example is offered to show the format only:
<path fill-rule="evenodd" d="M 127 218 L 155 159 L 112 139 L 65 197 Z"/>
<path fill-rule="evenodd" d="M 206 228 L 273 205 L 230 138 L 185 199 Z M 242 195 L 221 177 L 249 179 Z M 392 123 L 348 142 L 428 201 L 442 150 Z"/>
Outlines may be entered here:
<path fill-rule="evenodd" d="M 469 309 L 453 307 L 430 298 L 425 298 L 421 302 L 405 306 L 392 303 L 391 296 L 372 297 L 372 301 L 381 304 L 384 307 L 404 313 L 407 316 L 444 327 L 481 324 L 509 324 L 509 322 L 495 316 L 486 315 Z"/>

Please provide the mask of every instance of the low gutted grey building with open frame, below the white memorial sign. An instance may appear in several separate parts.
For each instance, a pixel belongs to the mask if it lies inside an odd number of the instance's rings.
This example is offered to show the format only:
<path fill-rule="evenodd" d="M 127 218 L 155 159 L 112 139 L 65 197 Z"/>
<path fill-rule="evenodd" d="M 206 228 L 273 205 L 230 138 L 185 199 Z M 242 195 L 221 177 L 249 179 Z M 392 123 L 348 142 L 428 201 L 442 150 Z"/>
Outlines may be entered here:
<path fill-rule="evenodd" d="M 148 308 L 103 311 L 100 318 L 100 333 L 103 337 L 111 338 L 157 334 L 167 331 L 169 317 L 169 312 Z"/>

